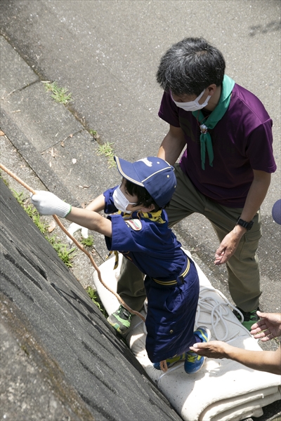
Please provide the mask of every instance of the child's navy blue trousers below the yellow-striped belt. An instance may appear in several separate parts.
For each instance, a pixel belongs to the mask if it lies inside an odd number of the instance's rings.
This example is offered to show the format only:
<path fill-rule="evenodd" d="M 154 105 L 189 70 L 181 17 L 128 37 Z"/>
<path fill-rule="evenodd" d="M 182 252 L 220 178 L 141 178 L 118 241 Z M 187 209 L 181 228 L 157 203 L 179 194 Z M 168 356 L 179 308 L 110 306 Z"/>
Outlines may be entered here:
<path fill-rule="evenodd" d="M 146 350 L 152 363 L 189 351 L 197 342 L 194 331 L 199 298 L 199 277 L 194 263 L 175 286 L 162 286 L 145 276 L 148 314 Z"/>

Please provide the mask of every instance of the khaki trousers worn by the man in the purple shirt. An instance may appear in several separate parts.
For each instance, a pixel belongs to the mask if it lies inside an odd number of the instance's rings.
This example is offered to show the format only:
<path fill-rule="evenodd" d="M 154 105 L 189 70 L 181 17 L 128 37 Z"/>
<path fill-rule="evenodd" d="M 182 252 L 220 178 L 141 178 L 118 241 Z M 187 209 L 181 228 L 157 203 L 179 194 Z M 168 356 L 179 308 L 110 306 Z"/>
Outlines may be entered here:
<path fill-rule="evenodd" d="M 201 194 L 190 182 L 187 175 L 175 164 L 177 187 L 166 213 L 169 217 L 169 227 L 183 220 L 192 213 L 201 213 L 211 222 L 216 235 L 221 242 L 234 227 L 242 208 L 228 208 L 209 200 Z M 226 263 L 228 269 L 228 287 L 230 295 L 237 307 L 244 312 L 250 312 L 259 306 L 260 277 L 259 259 L 256 249 L 261 238 L 260 211 L 254 217 L 254 225 L 246 232 L 235 251 Z M 137 311 L 143 307 L 145 289 L 143 274 L 129 260 L 122 260 L 117 293 L 127 305 Z"/>

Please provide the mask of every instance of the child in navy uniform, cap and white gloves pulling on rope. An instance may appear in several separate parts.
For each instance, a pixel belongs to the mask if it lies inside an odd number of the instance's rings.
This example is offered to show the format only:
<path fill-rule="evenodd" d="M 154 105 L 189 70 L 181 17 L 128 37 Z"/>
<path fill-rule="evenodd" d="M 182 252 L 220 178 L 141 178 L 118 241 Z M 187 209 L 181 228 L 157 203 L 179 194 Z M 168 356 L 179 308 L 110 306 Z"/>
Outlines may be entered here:
<path fill-rule="evenodd" d="M 155 156 L 134 163 L 115 156 L 122 184 L 108 189 L 86 209 L 74 208 L 50 192 L 37 192 L 32 203 L 42 215 L 56 214 L 105 235 L 108 250 L 117 250 L 145 274 L 148 314 L 146 350 L 155 368 L 185 361 L 196 373 L 204 357 L 190 352 L 207 342 L 204 326 L 193 331 L 199 297 L 194 262 L 168 227 L 166 206 L 176 188 L 174 168 Z M 110 214 L 104 218 L 98 212 Z"/>

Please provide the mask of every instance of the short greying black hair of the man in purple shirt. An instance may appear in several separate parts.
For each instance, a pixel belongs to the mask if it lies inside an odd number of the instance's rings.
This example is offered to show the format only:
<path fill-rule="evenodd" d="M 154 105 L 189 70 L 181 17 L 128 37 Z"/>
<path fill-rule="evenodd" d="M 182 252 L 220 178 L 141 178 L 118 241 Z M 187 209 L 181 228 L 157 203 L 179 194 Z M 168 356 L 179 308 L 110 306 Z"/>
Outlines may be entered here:
<path fill-rule="evenodd" d="M 175 95 L 200 95 L 212 83 L 220 86 L 226 62 L 204 38 L 185 38 L 162 56 L 156 79 Z"/>

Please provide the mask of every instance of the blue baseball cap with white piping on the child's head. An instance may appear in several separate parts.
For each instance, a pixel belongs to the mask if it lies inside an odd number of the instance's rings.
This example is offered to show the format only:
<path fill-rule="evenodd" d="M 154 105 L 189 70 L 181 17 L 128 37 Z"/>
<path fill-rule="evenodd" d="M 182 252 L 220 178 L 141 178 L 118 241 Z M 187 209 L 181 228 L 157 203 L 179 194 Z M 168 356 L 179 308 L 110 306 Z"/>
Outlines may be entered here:
<path fill-rule="evenodd" d="M 145 187 L 160 208 L 171 200 L 176 189 L 174 167 L 156 156 L 128 162 L 115 156 L 117 169 L 122 177 L 133 184 Z"/>

